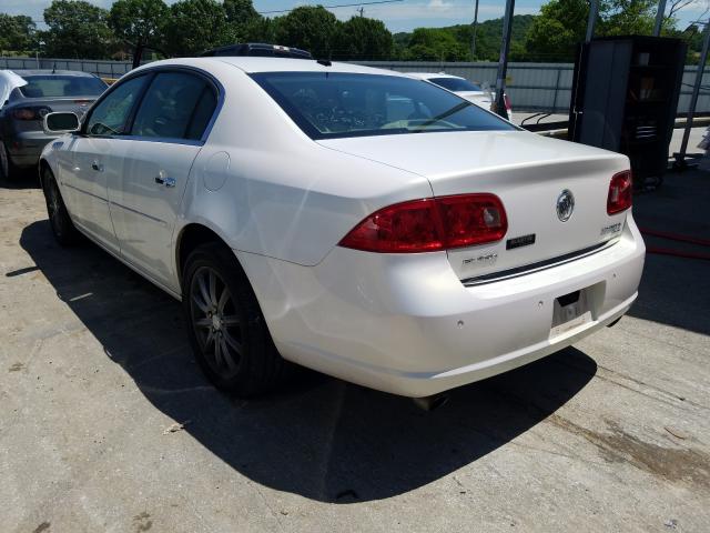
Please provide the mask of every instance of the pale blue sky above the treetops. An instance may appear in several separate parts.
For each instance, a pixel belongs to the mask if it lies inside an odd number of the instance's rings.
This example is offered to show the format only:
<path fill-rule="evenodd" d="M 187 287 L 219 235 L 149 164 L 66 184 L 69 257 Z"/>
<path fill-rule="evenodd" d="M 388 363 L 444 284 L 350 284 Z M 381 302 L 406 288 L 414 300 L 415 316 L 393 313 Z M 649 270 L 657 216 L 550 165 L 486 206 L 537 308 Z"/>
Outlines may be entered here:
<path fill-rule="evenodd" d="M 112 0 L 89 0 L 91 3 L 109 8 Z M 174 3 L 175 0 L 166 0 Z M 362 0 L 369 2 L 375 0 Z M 355 3 L 357 0 L 254 0 L 254 8 L 260 12 L 288 10 L 297 6 L 317 4 L 337 6 Z M 694 0 L 693 4 L 681 11 L 680 27 L 684 28 L 702 14 L 710 0 Z M 0 12 L 9 14 L 29 14 L 38 22 L 42 21 L 42 12 L 51 0 L 0 0 Z M 365 16 L 381 19 L 390 31 L 410 31 L 418 27 L 442 27 L 467 23 L 474 18 L 475 0 L 403 0 L 400 2 L 363 6 Z M 516 14 L 535 14 L 545 0 L 517 0 Z M 668 1 L 670 4 L 670 0 Z M 504 0 L 479 0 L 478 19 L 488 20 L 503 17 Z M 347 20 L 356 14 L 356 6 L 332 8 L 339 19 Z M 273 16 L 273 14 L 272 14 Z M 41 24 L 38 24 L 41 26 Z"/>

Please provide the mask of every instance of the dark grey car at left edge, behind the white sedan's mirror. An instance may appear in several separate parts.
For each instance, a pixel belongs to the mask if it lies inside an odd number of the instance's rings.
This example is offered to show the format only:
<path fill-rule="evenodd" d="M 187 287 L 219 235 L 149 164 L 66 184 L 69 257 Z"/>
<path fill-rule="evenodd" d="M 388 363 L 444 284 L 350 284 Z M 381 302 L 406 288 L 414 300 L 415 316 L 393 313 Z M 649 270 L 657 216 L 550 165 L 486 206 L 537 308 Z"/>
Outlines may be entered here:
<path fill-rule="evenodd" d="M 47 113 L 82 115 L 106 87 L 87 72 L 0 70 L 0 178 L 37 165 L 44 144 L 57 137 L 42 130 Z"/>

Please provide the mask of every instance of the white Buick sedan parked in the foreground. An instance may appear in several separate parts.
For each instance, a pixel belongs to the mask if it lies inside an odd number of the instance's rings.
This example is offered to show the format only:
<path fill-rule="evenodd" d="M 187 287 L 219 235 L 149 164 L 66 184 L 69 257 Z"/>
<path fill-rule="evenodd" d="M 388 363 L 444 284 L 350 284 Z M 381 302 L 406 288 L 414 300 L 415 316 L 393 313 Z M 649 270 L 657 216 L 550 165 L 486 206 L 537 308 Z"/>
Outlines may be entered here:
<path fill-rule="evenodd" d="M 42 153 L 51 228 L 182 300 L 197 361 L 254 394 L 294 362 L 427 396 L 627 312 L 629 161 L 429 83 L 276 58 L 159 61 Z M 160 320 L 156 318 L 156 320 Z"/>

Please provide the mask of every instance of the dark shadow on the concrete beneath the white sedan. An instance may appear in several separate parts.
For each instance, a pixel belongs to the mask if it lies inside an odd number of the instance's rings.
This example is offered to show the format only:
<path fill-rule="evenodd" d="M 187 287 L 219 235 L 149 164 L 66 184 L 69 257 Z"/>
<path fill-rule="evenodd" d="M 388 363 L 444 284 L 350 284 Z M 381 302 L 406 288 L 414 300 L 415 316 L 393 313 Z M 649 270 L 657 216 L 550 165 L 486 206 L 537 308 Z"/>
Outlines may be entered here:
<path fill-rule="evenodd" d="M 317 501 L 379 500 L 450 474 L 554 413 L 597 370 L 569 348 L 454 390 L 434 412 L 315 372 L 243 401 L 206 382 L 169 295 L 98 247 L 61 249 L 48 221 L 20 244 L 156 409 L 190 421 L 184 431 L 254 482 Z"/>

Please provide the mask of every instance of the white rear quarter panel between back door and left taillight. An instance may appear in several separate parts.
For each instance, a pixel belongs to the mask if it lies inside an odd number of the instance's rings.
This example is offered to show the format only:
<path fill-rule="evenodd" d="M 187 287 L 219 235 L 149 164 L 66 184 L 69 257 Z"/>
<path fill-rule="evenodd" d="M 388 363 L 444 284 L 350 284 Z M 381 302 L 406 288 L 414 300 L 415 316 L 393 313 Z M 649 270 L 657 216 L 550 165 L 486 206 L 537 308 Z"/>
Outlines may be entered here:
<path fill-rule="evenodd" d="M 232 66 L 225 100 L 193 164 L 180 231 L 211 228 L 234 250 L 317 264 L 373 211 L 432 195 L 427 179 L 307 138 Z"/>

